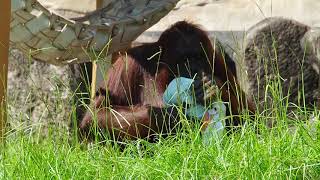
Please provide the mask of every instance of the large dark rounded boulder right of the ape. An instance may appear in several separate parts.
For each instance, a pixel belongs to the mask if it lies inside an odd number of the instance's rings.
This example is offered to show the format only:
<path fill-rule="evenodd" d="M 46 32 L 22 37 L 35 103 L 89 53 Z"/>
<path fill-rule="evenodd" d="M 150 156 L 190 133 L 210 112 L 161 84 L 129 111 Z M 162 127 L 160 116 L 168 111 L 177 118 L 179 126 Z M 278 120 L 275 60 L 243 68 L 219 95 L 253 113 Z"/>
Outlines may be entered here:
<path fill-rule="evenodd" d="M 306 104 L 310 107 L 316 103 L 320 84 L 319 71 L 314 66 L 318 59 L 314 52 L 306 53 L 301 46 L 310 29 L 284 18 L 267 18 L 249 29 L 239 77 L 257 102 L 271 105 L 275 100 L 285 101 L 289 95 L 290 103 L 303 105 L 304 91 Z M 273 96 L 273 90 L 279 90 L 283 97 Z"/>

